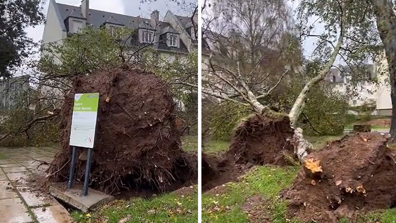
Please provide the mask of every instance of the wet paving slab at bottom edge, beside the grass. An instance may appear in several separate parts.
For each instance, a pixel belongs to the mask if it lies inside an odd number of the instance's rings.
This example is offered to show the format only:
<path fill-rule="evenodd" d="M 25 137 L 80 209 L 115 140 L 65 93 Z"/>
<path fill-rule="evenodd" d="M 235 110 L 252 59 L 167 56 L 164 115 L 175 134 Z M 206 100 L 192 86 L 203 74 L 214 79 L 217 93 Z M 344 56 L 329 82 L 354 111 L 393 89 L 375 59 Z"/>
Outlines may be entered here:
<path fill-rule="evenodd" d="M 69 213 L 61 205 L 32 209 L 39 223 L 73 223 Z"/>

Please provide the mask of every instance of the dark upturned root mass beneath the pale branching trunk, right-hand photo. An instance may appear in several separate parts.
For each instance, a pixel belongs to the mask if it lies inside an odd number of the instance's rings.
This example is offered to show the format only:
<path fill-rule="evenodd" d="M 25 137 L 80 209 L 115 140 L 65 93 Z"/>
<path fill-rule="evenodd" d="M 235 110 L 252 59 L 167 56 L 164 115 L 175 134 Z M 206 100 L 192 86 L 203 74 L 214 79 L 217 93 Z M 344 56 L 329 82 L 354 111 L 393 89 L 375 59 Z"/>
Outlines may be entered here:
<path fill-rule="evenodd" d="M 293 157 L 293 129 L 287 115 L 254 114 L 235 129 L 228 156 L 236 163 L 287 165 Z"/>

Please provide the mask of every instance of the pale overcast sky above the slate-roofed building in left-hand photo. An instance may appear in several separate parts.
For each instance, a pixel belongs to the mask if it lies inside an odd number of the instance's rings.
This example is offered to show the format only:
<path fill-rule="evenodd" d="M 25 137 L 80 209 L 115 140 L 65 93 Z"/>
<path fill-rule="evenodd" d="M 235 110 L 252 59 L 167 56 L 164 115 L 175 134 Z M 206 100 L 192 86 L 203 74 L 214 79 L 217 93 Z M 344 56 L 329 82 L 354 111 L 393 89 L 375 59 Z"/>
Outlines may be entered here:
<path fill-rule="evenodd" d="M 81 0 L 55 0 L 58 3 L 68 4 L 73 6 L 80 6 Z M 196 2 L 197 0 L 185 0 L 186 4 Z M 43 5 L 44 15 L 47 15 L 49 0 L 45 0 Z M 154 10 L 160 11 L 160 17 L 164 17 L 168 10 L 171 10 L 176 15 L 186 15 L 186 4 L 177 5 L 172 0 L 156 0 L 152 3 L 140 3 L 140 0 L 90 0 L 89 8 L 101 10 L 106 12 L 113 12 L 119 14 L 140 15 L 141 17 L 149 18 L 150 13 Z M 35 42 L 42 39 L 44 25 L 36 27 L 28 27 L 26 29 L 27 35 L 33 38 Z"/>

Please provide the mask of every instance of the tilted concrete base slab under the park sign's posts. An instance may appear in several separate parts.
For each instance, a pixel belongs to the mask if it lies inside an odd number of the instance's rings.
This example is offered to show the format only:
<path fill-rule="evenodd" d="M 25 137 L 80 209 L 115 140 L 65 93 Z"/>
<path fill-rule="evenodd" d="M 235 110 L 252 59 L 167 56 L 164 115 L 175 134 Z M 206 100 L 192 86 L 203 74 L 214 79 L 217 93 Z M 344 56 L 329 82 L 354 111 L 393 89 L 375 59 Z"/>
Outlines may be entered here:
<path fill-rule="evenodd" d="M 67 204 L 70 204 L 71 206 L 78 208 L 84 212 L 88 212 L 89 210 L 93 210 L 99 205 L 107 204 L 114 200 L 113 196 L 94 190 L 92 188 L 88 189 L 88 196 L 80 195 L 81 188 L 72 188 L 63 192 L 59 190 L 59 188 L 50 186 L 49 193 L 55 198 L 63 200 Z"/>

